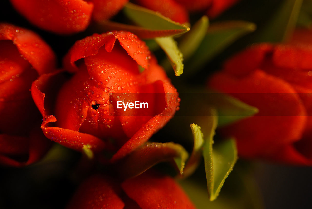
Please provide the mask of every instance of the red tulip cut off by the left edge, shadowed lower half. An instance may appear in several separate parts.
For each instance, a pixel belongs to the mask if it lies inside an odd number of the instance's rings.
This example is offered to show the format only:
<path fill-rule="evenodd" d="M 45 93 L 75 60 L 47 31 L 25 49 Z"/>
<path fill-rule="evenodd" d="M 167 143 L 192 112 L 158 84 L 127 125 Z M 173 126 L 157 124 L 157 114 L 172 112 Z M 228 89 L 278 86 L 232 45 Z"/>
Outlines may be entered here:
<path fill-rule="evenodd" d="M 29 89 L 38 75 L 54 69 L 55 56 L 37 34 L 5 23 L 0 24 L 0 46 L 0 163 L 28 165 L 48 145 L 36 129 L 40 113 Z"/>

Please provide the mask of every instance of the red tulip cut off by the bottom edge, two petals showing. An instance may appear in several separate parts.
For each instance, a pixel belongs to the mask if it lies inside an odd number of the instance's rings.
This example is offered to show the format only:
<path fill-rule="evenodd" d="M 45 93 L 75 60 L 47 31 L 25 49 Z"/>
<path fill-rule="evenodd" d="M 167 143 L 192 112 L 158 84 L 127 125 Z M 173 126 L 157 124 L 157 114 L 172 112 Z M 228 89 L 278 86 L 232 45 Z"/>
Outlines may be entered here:
<path fill-rule="evenodd" d="M 104 175 L 83 182 L 67 209 L 193 209 L 193 203 L 171 177 L 145 172 L 119 183 Z"/>

